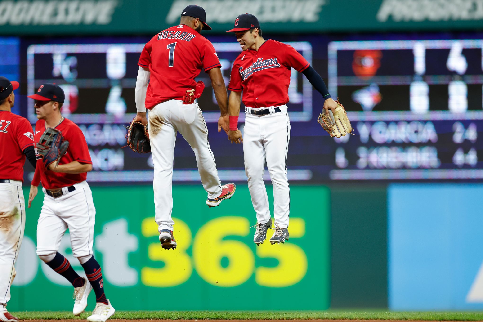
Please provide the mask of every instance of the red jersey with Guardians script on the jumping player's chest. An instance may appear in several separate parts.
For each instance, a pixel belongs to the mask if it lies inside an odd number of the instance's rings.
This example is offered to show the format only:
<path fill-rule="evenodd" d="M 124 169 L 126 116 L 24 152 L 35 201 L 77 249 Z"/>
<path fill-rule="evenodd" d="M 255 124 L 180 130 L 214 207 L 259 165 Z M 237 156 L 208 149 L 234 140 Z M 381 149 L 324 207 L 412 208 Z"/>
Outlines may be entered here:
<path fill-rule="evenodd" d="M 309 62 L 292 46 L 267 40 L 258 51 L 248 49 L 235 59 L 228 89 L 243 90 L 245 106 L 260 108 L 288 103 L 291 67 L 303 71 Z"/>

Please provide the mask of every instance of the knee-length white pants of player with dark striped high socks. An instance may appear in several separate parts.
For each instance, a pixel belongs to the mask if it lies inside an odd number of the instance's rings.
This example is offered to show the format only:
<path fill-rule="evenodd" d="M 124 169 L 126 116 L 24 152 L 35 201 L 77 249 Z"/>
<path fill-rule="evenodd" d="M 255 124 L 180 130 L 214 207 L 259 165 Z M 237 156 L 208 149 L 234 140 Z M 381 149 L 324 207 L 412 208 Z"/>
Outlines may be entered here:
<path fill-rule="evenodd" d="M 37 223 L 37 255 L 56 253 L 67 228 L 73 256 L 93 254 L 96 208 L 92 192 L 85 181 L 73 186 L 72 192 L 62 188 L 64 195 L 58 198 L 47 195 L 43 188 L 43 206 Z"/>

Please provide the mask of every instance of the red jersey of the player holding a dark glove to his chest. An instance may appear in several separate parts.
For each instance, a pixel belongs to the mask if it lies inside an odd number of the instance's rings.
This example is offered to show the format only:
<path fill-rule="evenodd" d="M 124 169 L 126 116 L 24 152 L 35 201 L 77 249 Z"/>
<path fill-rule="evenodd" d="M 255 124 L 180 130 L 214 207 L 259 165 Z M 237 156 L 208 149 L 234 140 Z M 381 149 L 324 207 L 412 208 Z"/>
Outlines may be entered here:
<path fill-rule="evenodd" d="M 71 163 L 72 161 L 79 161 L 80 163 L 92 164 L 89 148 L 87 147 L 87 142 L 85 141 L 84 134 L 82 133 L 79 126 L 68 119 L 64 119 L 59 125 L 55 127 L 57 130 L 62 132 L 64 140 L 69 141 L 69 148 L 67 152 L 62 155 L 59 161 L 59 165 Z M 35 124 L 35 143 L 38 143 L 40 137 L 45 131 L 45 121 L 38 120 Z M 40 181 L 45 189 L 58 189 L 62 187 L 70 186 L 74 183 L 79 183 L 85 181 L 87 178 L 87 173 L 62 173 L 47 170 L 43 163 L 41 156 L 37 153 L 37 167 L 35 167 L 35 175 L 32 180 L 32 185 L 39 185 L 39 174 Z"/>

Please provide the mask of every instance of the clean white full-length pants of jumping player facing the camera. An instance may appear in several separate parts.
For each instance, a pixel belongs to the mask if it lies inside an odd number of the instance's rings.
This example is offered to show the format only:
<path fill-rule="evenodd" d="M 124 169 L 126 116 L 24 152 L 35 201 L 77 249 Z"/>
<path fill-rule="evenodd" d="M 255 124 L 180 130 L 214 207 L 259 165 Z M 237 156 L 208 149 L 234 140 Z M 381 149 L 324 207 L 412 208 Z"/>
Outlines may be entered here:
<path fill-rule="evenodd" d="M 256 116 L 245 110 L 243 127 L 243 154 L 248 190 L 258 223 L 270 220 L 269 199 L 263 173 L 265 160 L 273 184 L 273 217 L 281 228 L 288 228 L 290 213 L 290 188 L 287 179 L 287 152 L 290 140 L 290 119 L 287 106 L 279 106 L 281 112 Z"/>

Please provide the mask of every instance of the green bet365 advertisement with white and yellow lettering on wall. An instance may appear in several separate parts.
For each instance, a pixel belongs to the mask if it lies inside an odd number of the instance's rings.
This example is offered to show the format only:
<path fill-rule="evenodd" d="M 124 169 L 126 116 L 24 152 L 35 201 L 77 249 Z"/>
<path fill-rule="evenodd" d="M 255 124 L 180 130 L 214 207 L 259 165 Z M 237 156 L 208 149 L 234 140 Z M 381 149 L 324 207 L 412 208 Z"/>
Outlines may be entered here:
<path fill-rule="evenodd" d="M 273 205 L 271 189 L 270 204 Z M 93 187 L 95 257 L 104 290 L 117 309 L 327 309 L 330 296 L 329 205 L 323 186 L 291 186 L 290 239 L 253 243 L 250 194 L 209 209 L 201 185 L 173 186 L 176 250 L 163 250 L 151 186 Z M 28 190 L 24 190 L 26 199 Z M 71 310 L 73 288 L 35 254 L 40 192 L 27 209 L 9 310 Z M 272 212 L 273 214 L 273 212 Z M 268 236 L 273 234 L 269 230 Z M 59 252 L 81 276 L 68 232 Z M 34 291 L 32 291 L 34 290 Z M 35 291 L 36 290 L 36 291 Z M 43 296 L 39 296 L 42 290 Z M 95 304 L 94 292 L 89 306 Z"/>

